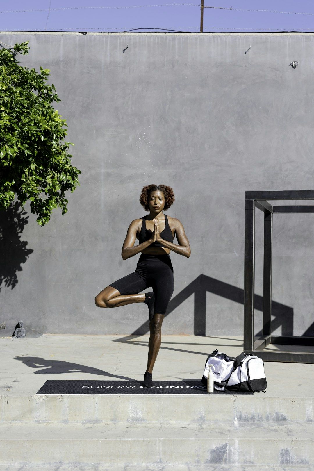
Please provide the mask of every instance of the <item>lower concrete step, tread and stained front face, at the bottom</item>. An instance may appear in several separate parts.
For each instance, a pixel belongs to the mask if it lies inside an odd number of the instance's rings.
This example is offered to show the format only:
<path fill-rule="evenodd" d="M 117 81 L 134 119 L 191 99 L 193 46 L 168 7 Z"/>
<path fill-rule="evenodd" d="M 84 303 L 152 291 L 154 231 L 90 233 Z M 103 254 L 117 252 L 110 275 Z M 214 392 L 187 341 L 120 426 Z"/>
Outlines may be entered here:
<path fill-rule="evenodd" d="M 311 422 L 3 423 L 0 437 L 2 465 L 314 466 Z"/>

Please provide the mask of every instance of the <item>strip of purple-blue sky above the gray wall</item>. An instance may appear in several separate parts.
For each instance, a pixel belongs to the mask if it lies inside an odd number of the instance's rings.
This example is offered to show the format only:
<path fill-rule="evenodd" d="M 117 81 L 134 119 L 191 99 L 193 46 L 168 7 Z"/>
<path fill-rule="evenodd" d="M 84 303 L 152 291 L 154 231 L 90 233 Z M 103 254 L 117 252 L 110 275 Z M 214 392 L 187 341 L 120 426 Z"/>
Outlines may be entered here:
<path fill-rule="evenodd" d="M 1 0 L 0 31 L 200 31 L 201 0 Z M 151 6 L 179 4 L 177 6 Z M 184 5 L 185 4 L 185 5 Z M 135 7 L 141 8 L 78 8 Z M 147 5 L 147 6 L 146 6 Z M 188 5 L 188 6 L 186 6 Z M 314 32 L 313 0 L 204 0 L 204 32 Z M 50 8 L 50 9 L 49 9 Z M 56 8 L 56 9 L 55 9 Z M 68 8 L 68 9 L 67 9 Z M 74 8 L 74 9 L 71 9 Z M 237 11 L 239 9 L 276 10 Z M 39 10 L 7 13 L 8 10 Z M 295 13 L 312 13 L 301 15 Z M 153 28 L 145 29 L 145 28 Z"/>

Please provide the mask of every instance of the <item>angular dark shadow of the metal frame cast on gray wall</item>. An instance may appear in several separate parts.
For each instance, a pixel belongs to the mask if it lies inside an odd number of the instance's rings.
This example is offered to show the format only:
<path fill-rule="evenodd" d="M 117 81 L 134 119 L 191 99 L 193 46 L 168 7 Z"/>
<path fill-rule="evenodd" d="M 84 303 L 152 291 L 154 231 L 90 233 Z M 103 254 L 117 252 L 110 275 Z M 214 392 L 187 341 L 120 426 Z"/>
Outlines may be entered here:
<path fill-rule="evenodd" d="M 229 283 L 201 274 L 181 292 L 170 300 L 165 316 L 169 316 L 171 311 L 176 309 L 192 294 L 194 295 L 194 335 L 206 335 L 206 292 L 211 292 L 225 299 L 244 304 L 244 290 Z M 255 309 L 262 311 L 263 296 L 255 294 Z M 293 308 L 272 301 L 272 332 L 278 327 L 282 328 L 282 335 L 293 335 Z M 149 333 L 149 321 L 140 325 L 131 335 L 144 335 Z M 262 335 L 262 331 L 255 333 L 257 337 Z M 314 323 L 306 329 L 302 336 L 314 335 Z M 126 337 L 122 337 L 124 341 Z M 121 339 L 122 339 L 121 338 Z M 120 341 L 121 339 L 116 339 Z"/>

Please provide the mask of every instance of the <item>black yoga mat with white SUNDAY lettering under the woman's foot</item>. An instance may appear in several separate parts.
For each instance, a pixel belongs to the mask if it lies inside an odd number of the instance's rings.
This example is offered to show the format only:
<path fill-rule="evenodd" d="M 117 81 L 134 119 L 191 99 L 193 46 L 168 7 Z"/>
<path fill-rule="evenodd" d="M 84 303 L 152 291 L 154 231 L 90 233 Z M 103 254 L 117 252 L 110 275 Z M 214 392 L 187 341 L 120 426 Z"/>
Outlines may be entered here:
<path fill-rule="evenodd" d="M 48 380 L 36 394 L 253 394 L 252 392 L 207 392 L 201 380 L 153 381 L 144 388 L 142 381 Z"/>

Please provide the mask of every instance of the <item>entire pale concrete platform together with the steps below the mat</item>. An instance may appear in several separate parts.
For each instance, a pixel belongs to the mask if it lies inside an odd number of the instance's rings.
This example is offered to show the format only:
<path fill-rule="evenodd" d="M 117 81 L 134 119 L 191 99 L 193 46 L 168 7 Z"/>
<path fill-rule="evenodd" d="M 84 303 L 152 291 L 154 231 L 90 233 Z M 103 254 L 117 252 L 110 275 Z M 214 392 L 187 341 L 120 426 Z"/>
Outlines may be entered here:
<path fill-rule="evenodd" d="M 0 471 L 313 471 L 311 364 L 265 361 L 253 395 L 36 395 L 51 379 L 142 380 L 148 339 L 0 338 Z M 201 379 L 215 349 L 235 357 L 242 338 L 162 335 L 153 380 Z"/>

